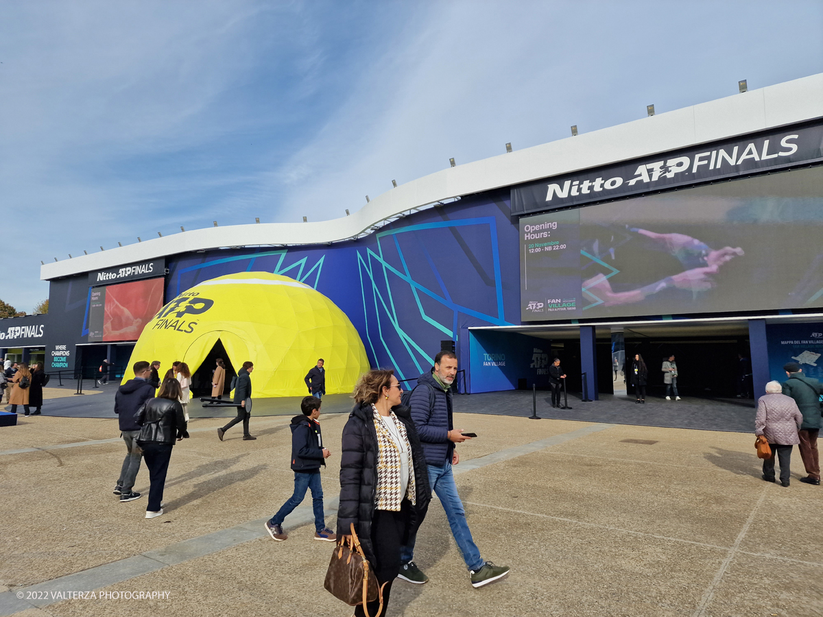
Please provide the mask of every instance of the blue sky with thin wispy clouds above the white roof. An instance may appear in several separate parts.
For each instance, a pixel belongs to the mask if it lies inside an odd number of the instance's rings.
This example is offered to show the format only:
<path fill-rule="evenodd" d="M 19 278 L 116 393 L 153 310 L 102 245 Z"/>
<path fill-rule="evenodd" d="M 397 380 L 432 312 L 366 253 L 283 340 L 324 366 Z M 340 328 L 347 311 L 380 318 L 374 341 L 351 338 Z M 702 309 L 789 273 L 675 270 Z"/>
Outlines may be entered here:
<path fill-rule="evenodd" d="M 449 165 L 823 72 L 823 2 L 4 2 L 0 299 L 40 260 L 324 220 Z"/>

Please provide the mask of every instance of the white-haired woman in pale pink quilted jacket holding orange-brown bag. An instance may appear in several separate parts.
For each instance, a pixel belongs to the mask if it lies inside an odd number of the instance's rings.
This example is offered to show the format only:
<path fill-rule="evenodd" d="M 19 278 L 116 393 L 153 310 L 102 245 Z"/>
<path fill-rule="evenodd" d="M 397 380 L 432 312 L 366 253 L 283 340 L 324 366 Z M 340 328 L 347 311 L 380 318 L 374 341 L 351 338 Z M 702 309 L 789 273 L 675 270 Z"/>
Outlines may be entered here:
<path fill-rule="evenodd" d="M 763 480 L 774 482 L 774 456 L 780 459 L 780 485 L 788 486 L 789 466 L 792 462 L 792 446 L 800 443 L 797 429 L 803 415 L 792 397 L 787 397 L 779 382 L 766 384 L 766 393 L 757 401 L 755 434 L 765 435 L 769 442 L 771 458 L 763 459 Z"/>

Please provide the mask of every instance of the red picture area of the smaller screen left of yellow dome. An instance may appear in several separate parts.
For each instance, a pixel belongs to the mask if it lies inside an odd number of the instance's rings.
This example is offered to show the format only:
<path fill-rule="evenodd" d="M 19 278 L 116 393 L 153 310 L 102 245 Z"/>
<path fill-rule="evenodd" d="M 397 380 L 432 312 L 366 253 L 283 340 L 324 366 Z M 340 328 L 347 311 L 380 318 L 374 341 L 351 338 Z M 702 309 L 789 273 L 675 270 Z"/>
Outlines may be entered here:
<path fill-rule="evenodd" d="M 136 341 L 163 307 L 163 281 L 156 278 L 106 287 L 103 340 Z"/>

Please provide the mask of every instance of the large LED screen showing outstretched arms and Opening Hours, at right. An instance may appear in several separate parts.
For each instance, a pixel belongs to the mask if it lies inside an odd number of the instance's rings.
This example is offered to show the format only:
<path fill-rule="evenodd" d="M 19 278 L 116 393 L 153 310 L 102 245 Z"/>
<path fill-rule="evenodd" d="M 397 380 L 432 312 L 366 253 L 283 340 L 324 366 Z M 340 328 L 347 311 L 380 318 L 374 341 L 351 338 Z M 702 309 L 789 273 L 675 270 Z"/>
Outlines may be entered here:
<path fill-rule="evenodd" d="M 823 307 L 823 167 L 520 219 L 523 321 Z"/>

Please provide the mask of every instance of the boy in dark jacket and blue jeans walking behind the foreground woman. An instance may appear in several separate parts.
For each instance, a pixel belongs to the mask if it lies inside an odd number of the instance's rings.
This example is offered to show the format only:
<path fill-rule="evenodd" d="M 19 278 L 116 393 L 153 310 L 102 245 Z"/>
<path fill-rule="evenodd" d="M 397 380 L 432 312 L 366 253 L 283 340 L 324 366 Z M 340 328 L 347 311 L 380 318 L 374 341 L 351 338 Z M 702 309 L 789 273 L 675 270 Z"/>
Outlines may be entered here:
<path fill-rule="evenodd" d="M 314 505 L 314 540 L 336 542 L 335 533 L 326 527 L 323 515 L 323 486 L 320 484 L 320 466 L 326 466 L 323 459 L 331 456 L 323 448 L 323 435 L 320 434 L 320 399 L 305 397 L 300 402 L 303 415 L 291 419 L 291 468 L 295 471 L 295 492 L 277 511 L 271 520 L 266 521 L 266 531 L 272 540 L 282 541 L 289 536 L 283 532 L 283 520 L 303 501 L 306 489 L 311 489 Z"/>

